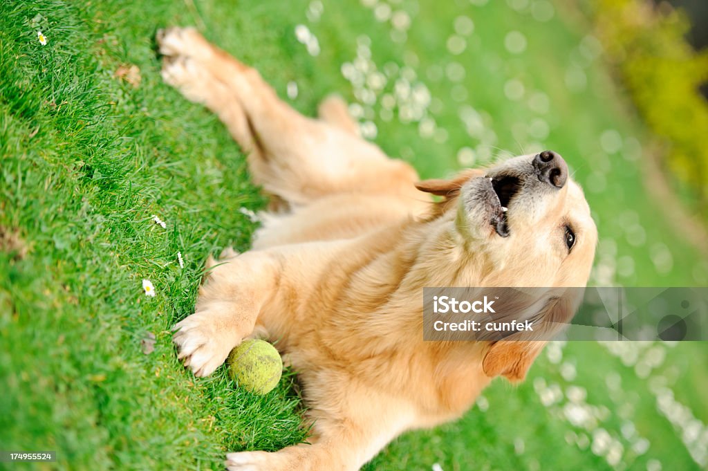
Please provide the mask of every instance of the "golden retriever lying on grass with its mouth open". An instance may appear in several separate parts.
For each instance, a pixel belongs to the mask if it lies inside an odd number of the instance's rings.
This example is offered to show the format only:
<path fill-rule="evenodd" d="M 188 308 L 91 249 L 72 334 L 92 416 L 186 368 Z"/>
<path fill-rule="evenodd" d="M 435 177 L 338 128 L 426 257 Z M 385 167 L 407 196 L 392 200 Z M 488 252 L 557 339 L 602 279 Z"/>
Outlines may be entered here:
<path fill-rule="evenodd" d="M 584 287 L 597 231 L 558 154 L 418 181 L 359 137 L 340 99 L 305 118 L 193 28 L 157 40 L 164 80 L 219 116 L 278 203 L 251 250 L 207 262 L 195 313 L 174 327 L 196 376 L 252 336 L 297 371 L 309 443 L 229 453 L 229 470 L 358 470 L 400 433 L 459 417 L 496 376 L 525 377 L 544 341 L 424 341 L 423 288 Z M 537 314 L 569 319 L 577 303 Z"/>

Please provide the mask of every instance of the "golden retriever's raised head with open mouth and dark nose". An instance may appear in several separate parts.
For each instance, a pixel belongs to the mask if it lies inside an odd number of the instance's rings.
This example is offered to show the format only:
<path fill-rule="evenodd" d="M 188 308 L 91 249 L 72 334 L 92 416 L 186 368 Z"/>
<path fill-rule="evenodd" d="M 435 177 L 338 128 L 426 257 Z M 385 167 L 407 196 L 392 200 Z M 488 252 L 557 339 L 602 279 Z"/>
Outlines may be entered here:
<path fill-rule="evenodd" d="M 559 154 L 523 155 L 489 169 L 463 171 L 451 180 L 421 181 L 417 187 L 446 198 L 445 214 L 454 218 L 455 230 L 477 261 L 477 286 L 562 288 L 588 282 L 598 231 L 583 191 Z M 542 309 L 530 315 L 569 322 L 581 293 L 567 290 L 542 300 Z M 484 371 L 523 379 L 543 345 L 492 342 Z"/>

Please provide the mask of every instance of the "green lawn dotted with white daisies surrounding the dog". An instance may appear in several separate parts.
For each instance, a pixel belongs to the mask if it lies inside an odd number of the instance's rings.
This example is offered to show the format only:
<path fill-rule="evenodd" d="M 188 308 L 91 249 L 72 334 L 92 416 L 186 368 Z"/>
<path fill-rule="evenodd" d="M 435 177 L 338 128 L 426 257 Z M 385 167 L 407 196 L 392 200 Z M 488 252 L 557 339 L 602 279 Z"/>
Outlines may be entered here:
<path fill-rule="evenodd" d="M 297 81 L 292 103 L 305 113 L 332 91 L 355 101 L 341 66 L 358 47 L 366 53 L 358 46 L 366 35 L 379 69 L 407 65 L 413 84 L 426 84 L 428 115 L 447 132 L 447 139 L 441 131 L 437 141 L 423 137 L 418 123 L 395 114 L 387 120 L 379 100 L 366 113 L 389 154 L 409 159 L 423 176 L 441 176 L 459 168 L 462 147 L 484 163 L 541 140 L 564 154 L 586 185 L 601 239 L 593 283 L 707 283 L 706 259 L 670 227 L 644 187 L 638 145 L 646 132 L 601 59 L 589 59 L 588 25 L 564 10 L 539 22 L 530 7 L 519 12 L 503 1 L 392 5 L 413 18 L 406 42 L 394 42 L 390 23 L 353 0 L 329 2 L 315 22 L 306 18 L 309 3 L 299 0 L 0 4 L 0 448 L 59 451 L 55 465 L 0 468 L 218 470 L 227 451 L 277 450 L 304 438 L 292 375 L 256 397 L 234 389 L 223 368 L 196 380 L 176 360 L 169 329 L 193 309 L 202 261 L 224 246 L 248 249 L 255 226 L 238 209 L 265 201 L 218 120 L 161 83 L 152 37 L 164 25 L 203 25 L 207 38 L 258 67 L 282 96 Z M 46 46 L 31 23 L 38 13 L 46 18 Z M 473 19 L 474 32 L 452 57 L 445 42 L 461 14 Z M 316 57 L 295 40 L 299 23 L 319 39 Z M 525 34 L 523 54 L 506 50 L 510 30 Z M 445 78 L 451 61 L 467 71 L 462 101 L 462 89 Z M 114 76 L 130 64 L 141 72 L 137 88 Z M 586 76 L 584 89 L 569 91 L 569 67 L 571 76 Z M 518 101 L 505 96 L 510 79 L 524 86 Z M 392 88 L 389 81 L 379 98 Z M 539 93 L 547 96 L 546 112 L 529 106 L 534 96 L 544 101 Z M 481 116 L 481 133 L 465 131 L 463 104 Z M 547 123 L 545 139 L 527 129 L 537 119 Z M 619 147 L 608 147 L 607 130 L 622 137 Z M 143 278 L 152 280 L 156 297 L 142 294 Z M 148 332 L 156 346 L 144 354 L 140 341 Z M 593 453 L 582 438 L 591 443 L 599 429 L 622 446 L 614 469 L 644 470 L 651 460 L 665 470 L 700 469 L 682 432 L 658 412 L 650 386 L 666 382 L 676 400 L 708 421 L 706 350 L 690 343 L 658 348 L 666 360 L 640 378 L 632 363 L 622 363 L 629 353 L 569 344 L 560 362 L 557 351 L 542 356 L 523 385 L 495 382 L 484 392 L 486 412 L 475 407 L 454 424 L 407 433 L 367 469 L 612 469 L 607 450 Z M 576 378 L 561 375 L 569 368 Z M 614 374 L 619 389 L 607 386 Z M 578 404 L 597 415 L 594 421 L 569 422 L 568 394 L 549 402 L 556 388 L 571 386 L 586 391 Z M 633 454 L 639 437 L 651 446 Z"/>

